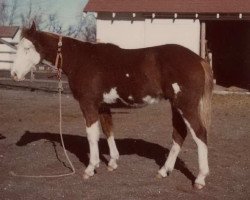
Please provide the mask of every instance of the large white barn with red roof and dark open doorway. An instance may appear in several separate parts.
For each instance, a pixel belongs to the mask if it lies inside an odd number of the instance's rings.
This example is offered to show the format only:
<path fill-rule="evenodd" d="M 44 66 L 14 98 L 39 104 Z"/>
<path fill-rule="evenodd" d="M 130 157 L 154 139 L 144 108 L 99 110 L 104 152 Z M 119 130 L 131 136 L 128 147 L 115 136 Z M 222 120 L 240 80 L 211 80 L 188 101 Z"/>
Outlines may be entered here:
<path fill-rule="evenodd" d="M 248 0 L 89 0 L 97 42 L 122 48 L 175 43 L 210 61 L 218 84 L 250 89 Z"/>

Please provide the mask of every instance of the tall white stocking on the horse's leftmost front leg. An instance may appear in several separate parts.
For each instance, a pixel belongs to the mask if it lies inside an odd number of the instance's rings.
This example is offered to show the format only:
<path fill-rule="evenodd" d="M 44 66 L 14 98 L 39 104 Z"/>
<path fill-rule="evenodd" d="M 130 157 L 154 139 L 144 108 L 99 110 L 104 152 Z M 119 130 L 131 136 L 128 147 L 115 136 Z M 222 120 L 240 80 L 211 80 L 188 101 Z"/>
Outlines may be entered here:
<path fill-rule="evenodd" d="M 98 141 L 101 133 L 100 122 L 96 121 L 90 127 L 87 127 L 86 131 L 87 131 L 87 138 L 89 141 L 90 160 L 89 160 L 89 165 L 85 170 L 84 178 L 93 176 L 95 168 L 99 166 L 100 159 L 99 159 Z"/>

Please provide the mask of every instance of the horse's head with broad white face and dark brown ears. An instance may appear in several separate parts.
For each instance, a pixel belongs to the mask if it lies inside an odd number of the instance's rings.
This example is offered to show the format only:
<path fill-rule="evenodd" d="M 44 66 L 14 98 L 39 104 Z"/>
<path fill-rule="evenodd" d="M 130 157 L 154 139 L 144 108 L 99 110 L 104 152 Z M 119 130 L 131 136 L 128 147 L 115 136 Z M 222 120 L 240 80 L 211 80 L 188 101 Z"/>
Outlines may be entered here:
<path fill-rule="evenodd" d="M 22 81 L 25 75 L 37 65 L 41 56 L 38 48 L 35 46 L 36 25 L 32 24 L 31 28 L 23 29 L 21 40 L 17 47 L 16 57 L 13 67 L 11 68 L 11 77 L 15 81 Z"/>

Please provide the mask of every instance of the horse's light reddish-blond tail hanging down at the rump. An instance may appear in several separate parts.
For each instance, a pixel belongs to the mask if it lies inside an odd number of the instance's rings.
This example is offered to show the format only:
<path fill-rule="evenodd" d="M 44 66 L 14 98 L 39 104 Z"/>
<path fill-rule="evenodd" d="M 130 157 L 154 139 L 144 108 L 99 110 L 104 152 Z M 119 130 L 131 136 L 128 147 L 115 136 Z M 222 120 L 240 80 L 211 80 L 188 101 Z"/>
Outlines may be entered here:
<path fill-rule="evenodd" d="M 199 103 L 199 114 L 203 126 L 206 131 L 209 132 L 211 124 L 211 104 L 212 104 L 212 92 L 213 92 L 213 71 L 211 66 L 201 61 L 201 65 L 205 73 L 204 90 Z"/>

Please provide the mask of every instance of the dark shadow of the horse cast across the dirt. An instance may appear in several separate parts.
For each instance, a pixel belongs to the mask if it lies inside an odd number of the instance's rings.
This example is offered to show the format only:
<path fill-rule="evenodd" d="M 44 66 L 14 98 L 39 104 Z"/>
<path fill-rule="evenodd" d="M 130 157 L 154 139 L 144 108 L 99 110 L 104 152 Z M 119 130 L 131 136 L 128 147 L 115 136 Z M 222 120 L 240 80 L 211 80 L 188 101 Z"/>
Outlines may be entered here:
<path fill-rule="evenodd" d="M 64 143 L 66 149 L 75 154 L 79 160 L 84 163 L 85 166 L 88 165 L 89 157 L 89 145 L 86 137 L 81 137 L 78 135 L 63 135 Z M 33 133 L 26 131 L 25 134 L 16 143 L 17 146 L 25 146 L 29 143 L 45 139 L 52 143 L 57 155 L 57 150 L 55 148 L 56 143 L 61 143 L 60 135 L 56 133 Z M 116 144 L 120 155 L 131 155 L 136 154 L 141 157 L 149 158 L 155 160 L 156 164 L 161 167 L 165 160 L 166 155 L 169 154 L 169 150 L 155 143 L 150 143 L 141 139 L 116 139 Z M 99 141 L 100 158 L 106 164 L 107 159 L 103 155 L 109 154 L 109 149 L 106 139 L 100 139 Z M 60 161 L 60 160 L 59 160 Z M 60 161 L 61 162 L 61 161 Z M 183 173 L 189 180 L 194 183 L 195 176 L 193 173 L 185 166 L 185 163 L 177 158 L 175 169 Z"/>

